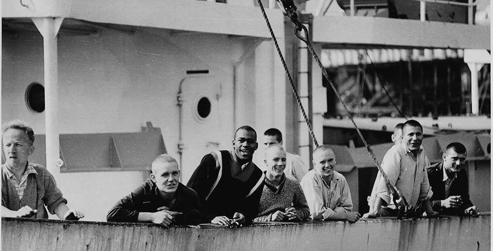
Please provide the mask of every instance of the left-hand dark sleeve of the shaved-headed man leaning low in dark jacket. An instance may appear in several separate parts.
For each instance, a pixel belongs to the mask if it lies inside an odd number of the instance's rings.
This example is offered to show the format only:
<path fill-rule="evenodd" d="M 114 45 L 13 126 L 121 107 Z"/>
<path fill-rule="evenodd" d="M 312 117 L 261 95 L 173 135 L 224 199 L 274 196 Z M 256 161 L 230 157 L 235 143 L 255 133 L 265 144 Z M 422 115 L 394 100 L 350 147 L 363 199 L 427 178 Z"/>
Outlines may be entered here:
<path fill-rule="evenodd" d="M 129 195 L 119 200 L 108 212 L 108 222 L 137 222 L 138 207 L 146 197 L 145 185 L 139 186 Z"/>

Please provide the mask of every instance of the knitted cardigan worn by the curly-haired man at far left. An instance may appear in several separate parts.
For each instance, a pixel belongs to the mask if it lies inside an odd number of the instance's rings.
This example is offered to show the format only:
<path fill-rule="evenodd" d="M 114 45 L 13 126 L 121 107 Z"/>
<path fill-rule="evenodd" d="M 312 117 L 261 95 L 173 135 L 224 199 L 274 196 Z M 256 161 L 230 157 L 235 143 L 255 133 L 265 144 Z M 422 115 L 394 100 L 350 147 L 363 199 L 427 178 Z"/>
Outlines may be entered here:
<path fill-rule="evenodd" d="M 58 189 L 55 178 L 45 167 L 30 162 L 27 165 L 33 167 L 37 173 L 30 173 L 27 176 L 27 185 L 22 200 L 19 199 L 15 186 L 10 182 L 7 166 L 2 165 L 2 206 L 13 211 L 29 206 L 32 209 L 38 209 L 36 218 L 47 219 L 48 213 L 45 205 L 51 214 L 55 214 L 55 209 L 60 203 L 67 204 L 67 200 L 63 198 L 62 192 Z"/>

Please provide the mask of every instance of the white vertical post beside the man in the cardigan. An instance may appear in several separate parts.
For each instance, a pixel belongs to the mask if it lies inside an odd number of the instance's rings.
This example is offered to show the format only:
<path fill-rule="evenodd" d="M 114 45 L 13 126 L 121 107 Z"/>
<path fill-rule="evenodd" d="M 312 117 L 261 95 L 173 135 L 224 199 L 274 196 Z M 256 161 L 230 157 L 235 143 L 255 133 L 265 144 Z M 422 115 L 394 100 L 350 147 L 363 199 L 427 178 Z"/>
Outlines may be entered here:
<path fill-rule="evenodd" d="M 55 19 L 43 20 L 46 168 L 60 181 L 60 140 L 58 133 L 58 48 Z"/>

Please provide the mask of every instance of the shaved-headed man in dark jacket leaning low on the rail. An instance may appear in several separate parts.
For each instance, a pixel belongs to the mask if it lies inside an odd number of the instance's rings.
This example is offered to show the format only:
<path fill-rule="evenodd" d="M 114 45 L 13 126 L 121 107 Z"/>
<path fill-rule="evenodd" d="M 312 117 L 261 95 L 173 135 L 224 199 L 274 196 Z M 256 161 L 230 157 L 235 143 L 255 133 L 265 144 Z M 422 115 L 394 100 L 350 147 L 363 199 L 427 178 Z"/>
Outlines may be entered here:
<path fill-rule="evenodd" d="M 165 227 L 196 225 L 200 218 L 199 197 L 178 182 L 177 161 L 168 154 L 152 162 L 148 180 L 121 199 L 108 212 L 109 222 L 152 222 Z"/>

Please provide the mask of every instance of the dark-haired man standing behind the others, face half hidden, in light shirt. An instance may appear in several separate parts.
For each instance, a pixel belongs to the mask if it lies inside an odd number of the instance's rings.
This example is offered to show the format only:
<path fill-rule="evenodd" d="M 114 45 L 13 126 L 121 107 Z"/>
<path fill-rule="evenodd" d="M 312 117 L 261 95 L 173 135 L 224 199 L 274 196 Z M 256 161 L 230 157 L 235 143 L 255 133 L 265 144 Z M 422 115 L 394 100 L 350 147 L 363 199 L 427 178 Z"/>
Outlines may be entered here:
<path fill-rule="evenodd" d="M 263 145 L 267 148 L 274 144 L 283 145 L 283 134 L 279 130 L 271 128 L 263 133 Z M 307 172 L 308 167 L 303 163 L 300 155 L 286 152 L 286 169 L 284 170 L 286 177 L 294 178 L 300 182 Z"/>

